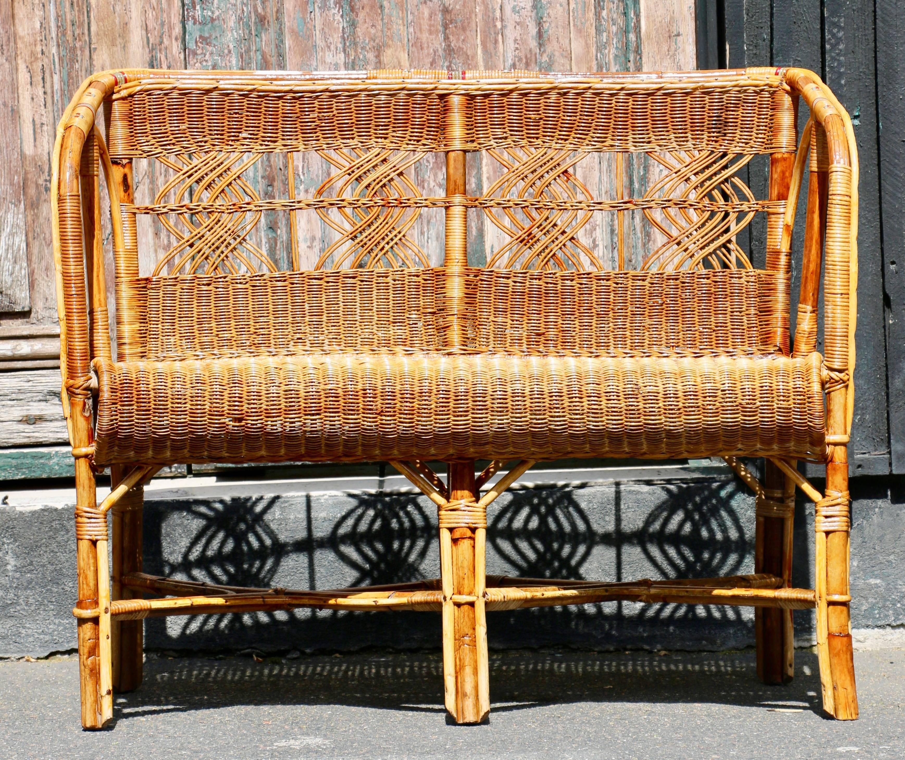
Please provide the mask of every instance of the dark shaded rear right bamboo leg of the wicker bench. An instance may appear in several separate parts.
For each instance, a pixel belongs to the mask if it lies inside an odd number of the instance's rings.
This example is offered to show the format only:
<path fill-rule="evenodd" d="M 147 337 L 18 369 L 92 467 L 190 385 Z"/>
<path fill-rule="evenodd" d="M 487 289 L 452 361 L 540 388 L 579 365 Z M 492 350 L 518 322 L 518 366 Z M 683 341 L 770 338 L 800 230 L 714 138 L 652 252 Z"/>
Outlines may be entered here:
<path fill-rule="evenodd" d="M 775 516 L 786 499 L 786 476 L 771 461 L 766 462 L 765 493 L 767 508 L 760 507 L 755 533 L 755 573 L 768 573 L 786 579 L 791 568 L 787 557 L 789 519 Z M 794 486 L 794 484 L 793 484 Z M 776 505 L 776 506 L 773 506 Z M 773 507 L 770 509 L 769 507 Z M 788 662 L 793 642 L 788 610 L 763 608 L 755 610 L 757 642 L 757 676 L 767 684 L 785 683 L 791 678 Z"/>

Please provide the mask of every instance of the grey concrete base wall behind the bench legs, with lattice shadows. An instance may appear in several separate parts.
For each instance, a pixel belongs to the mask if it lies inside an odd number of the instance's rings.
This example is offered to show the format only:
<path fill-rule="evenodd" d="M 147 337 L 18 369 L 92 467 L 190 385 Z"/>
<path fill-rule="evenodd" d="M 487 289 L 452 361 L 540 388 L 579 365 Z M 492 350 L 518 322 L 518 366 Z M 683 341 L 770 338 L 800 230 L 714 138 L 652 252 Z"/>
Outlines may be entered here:
<path fill-rule="evenodd" d="M 424 497 L 317 484 L 226 490 L 148 492 L 147 572 L 320 589 L 438 575 L 436 511 Z M 490 574 L 633 580 L 753 572 L 754 499 L 725 473 L 518 489 L 491 506 L 489 523 Z M 903 528 L 900 480 L 853 481 L 853 627 L 862 646 L 905 645 Z M 813 536 L 813 505 L 799 503 L 796 585 L 813 586 Z M 75 598 L 71 504 L 0 505 L 0 656 L 74 648 Z M 721 650 L 752 645 L 752 621 L 748 608 L 610 603 L 489 613 L 488 629 L 496 648 Z M 145 624 L 146 646 L 159 650 L 440 646 L 433 613 L 297 611 Z M 811 641 L 814 614 L 795 613 L 795 630 L 799 642 Z"/>

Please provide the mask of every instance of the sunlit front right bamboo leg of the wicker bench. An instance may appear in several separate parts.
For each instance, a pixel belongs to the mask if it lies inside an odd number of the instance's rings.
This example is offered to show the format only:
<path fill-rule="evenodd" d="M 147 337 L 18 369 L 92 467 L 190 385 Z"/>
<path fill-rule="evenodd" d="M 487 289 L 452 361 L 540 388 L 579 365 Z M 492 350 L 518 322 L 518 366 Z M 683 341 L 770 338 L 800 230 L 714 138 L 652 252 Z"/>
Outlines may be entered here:
<path fill-rule="evenodd" d="M 848 462 L 844 446 L 834 446 L 834 461 L 826 466 L 827 496 L 843 493 L 848 496 Z M 842 461 L 840 461 L 842 460 Z M 858 695 L 854 682 L 852 630 L 849 612 L 849 530 L 821 532 L 824 543 L 825 594 L 818 596 L 818 605 L 825 608 L 826 643 L 825 665 L 821 662 L 821 680 L 828 666 L 832 683 L 832 708 L 827 709 L 840 720 L 858 717 Z M 818 568 L 819 571 L 820 568 Z M 820 610 L 818 606 L 818 611 Z M 826 707 L 824 688 L 824 708 Z"/>

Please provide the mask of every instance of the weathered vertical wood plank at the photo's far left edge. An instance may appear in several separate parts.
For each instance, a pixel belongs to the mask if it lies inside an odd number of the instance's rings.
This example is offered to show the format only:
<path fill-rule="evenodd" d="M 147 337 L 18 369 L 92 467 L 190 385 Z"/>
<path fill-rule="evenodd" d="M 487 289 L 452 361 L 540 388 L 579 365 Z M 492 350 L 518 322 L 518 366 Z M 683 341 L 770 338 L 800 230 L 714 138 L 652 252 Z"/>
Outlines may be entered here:
<path fill-rule="evenodd" d="M 25 199 L 19 147 L 19 96 L 16 87 L 13 0 L 0 0 L 0 89 L 5 97 L 6 138 L 0 141 L 0 311 L 27 311 L 28 258 Z"/>

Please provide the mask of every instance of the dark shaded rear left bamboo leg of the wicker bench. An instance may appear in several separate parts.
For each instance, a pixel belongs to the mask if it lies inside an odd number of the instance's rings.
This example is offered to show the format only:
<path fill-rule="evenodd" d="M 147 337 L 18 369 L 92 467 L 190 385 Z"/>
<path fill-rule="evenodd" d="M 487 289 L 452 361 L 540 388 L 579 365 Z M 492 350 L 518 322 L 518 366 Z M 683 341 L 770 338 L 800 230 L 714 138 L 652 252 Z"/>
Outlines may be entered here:
<path fill-rule="evenodd" d="M 122 479 L 122 468 L 111 468 L 113 485 Z M 113 508 L 113 575 L 112 598 L 133 599 L 136 594 L 123 588 L 121 579 L 140 573 L 142 548 L 142 502 L 144 489 L 135 486 L 119 499 Z M 140 620 L 113 623 L 113 688 L 132 691 L 141 685 L 144 651 L 144 622 Z"/>

